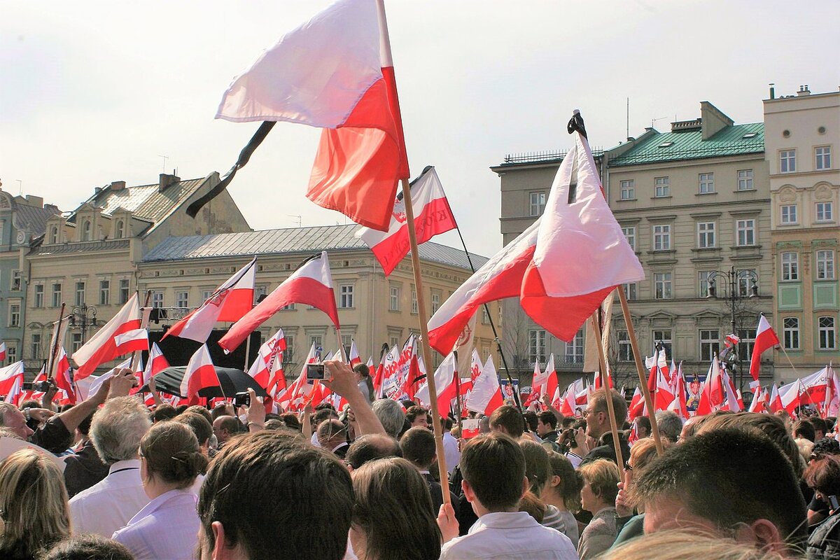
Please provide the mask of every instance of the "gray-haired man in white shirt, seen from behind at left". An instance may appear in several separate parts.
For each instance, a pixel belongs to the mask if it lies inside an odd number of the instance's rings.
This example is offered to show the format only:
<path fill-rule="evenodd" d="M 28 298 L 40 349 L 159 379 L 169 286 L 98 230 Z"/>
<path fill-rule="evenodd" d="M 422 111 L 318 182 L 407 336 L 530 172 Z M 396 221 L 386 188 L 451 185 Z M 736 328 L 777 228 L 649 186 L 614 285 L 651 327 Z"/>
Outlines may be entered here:
<path fill-rule="evenodd" d="M 93 415 L 93 447 L 110 468 L 105 479 L 70 500 L 74 533 L 111 538 L 149 503 L 140 479 L 138 450 L 150 427 L 149 411 L 134 396 L 110 399 Z"/>

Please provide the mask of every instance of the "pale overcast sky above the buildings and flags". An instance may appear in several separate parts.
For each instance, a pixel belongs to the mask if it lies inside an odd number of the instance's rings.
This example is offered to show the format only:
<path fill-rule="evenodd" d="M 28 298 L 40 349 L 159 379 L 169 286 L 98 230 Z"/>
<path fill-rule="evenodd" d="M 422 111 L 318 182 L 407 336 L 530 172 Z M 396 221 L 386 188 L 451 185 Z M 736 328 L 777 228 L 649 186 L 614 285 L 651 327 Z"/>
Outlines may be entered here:
<path fill-rule="evenodd" d="M 0 181 L 72 210 L 96 186 L 224 174 L 258 123 L 215 120 L 235 76 L 328 0 L 0 0 Z M 412 176 L 434 165 L 470 251 L 501 248 L 506 154 L 700 116 L 762 120 L 840 86 L 840 1 L 386 0 Z M 629 112 L 627 99 L 629 98 Z M 318 130 L 278 123 L 228 188 L 255 229 L 345 223 L 304 196 Z M 161 156 L 165 156 L 161 157 Z M 458 246 L 457 234 L 435 239 Z"/>

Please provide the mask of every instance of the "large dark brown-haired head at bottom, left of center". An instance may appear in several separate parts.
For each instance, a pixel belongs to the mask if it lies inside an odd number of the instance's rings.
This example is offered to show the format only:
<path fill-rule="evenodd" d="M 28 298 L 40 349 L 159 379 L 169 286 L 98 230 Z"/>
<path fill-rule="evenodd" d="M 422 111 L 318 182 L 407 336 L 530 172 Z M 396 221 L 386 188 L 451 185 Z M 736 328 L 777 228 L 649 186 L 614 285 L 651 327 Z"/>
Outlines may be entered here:
<path fill-rule="evenodd" d="M 200 557 L 341 560 L 353 507 L 350 474 L 332 453 L 282 432 L 246 434 L 207 470 Z"/>

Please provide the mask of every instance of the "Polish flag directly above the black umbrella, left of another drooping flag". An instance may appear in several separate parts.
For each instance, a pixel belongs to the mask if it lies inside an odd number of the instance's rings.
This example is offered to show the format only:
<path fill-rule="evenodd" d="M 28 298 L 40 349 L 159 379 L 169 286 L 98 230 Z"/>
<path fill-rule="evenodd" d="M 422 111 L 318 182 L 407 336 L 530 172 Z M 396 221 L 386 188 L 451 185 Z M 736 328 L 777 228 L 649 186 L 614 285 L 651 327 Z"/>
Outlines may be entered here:
<path fill-rule="evenodd" d="M 225 280 L 207 301 L 172 325 L 160 340 L 173 336 L 205 343 L 217 322 L 239 321 L 254 306 L 256 262 L 254 257 Z"/>

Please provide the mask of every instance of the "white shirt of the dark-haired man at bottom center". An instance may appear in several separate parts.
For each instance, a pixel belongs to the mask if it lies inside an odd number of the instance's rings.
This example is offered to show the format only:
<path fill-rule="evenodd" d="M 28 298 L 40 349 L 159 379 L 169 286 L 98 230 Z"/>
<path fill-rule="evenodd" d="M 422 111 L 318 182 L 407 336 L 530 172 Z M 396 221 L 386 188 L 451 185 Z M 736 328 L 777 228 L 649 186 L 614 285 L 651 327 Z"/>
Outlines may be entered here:
<path fill-rule="evenodd" d="M 488 513 L 444 544 L 440 560 L 578 560 L 575 545 L 525 511 Z"/>

